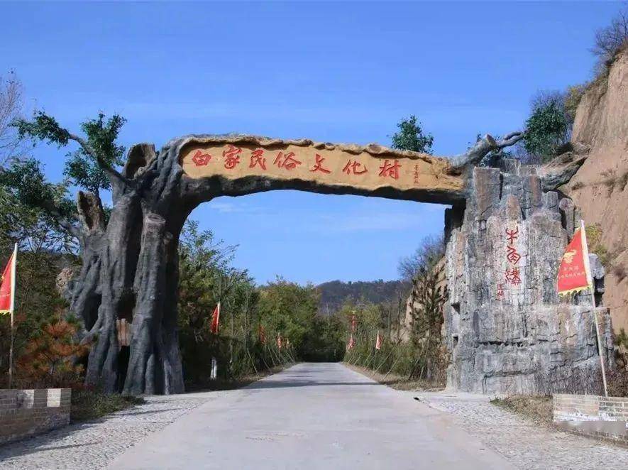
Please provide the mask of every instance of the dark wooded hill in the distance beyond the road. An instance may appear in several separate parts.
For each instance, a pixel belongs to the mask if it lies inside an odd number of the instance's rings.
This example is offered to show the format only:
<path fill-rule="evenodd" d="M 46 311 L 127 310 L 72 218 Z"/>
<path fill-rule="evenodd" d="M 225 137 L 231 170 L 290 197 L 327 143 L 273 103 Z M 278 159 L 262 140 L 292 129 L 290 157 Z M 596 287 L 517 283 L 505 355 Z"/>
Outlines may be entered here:
<path fill-rule="evenodd" d="M 409 294 L 409 283 L 402 280 L 373 280 L 343 283 L 341 280 L 331 280 L 329 283 L 317 285 L 321 293 L 319 311 L 324 315 L 331 315 L 343 305 L 346 300 L 358 302 L 387 302 L 397 300 L 400 294 Z"/>

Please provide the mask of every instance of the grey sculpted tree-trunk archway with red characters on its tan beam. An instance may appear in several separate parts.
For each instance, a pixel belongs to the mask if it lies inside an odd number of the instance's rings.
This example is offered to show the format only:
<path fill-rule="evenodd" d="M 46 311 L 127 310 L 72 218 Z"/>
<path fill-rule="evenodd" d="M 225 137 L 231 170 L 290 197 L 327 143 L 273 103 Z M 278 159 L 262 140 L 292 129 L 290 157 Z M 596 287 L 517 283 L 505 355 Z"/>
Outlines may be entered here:
<path fill-rule="evenodd" d="M 446 222 L 450 233 L 462 233 L 465 224 L 475 223 L 465 207 L 473 207 L 473 214 L 488 214 L 493 206 L 484 204 L 487 197 L 497 191 L 501 200 L 504 188 L 512 186 L 505 184 L 512 173 L 486 173 L 474 170 L 475 165 L 490 151 L 520 138 L 521 133 L 501 141 L 485 136 L 452 158 L 377 144 L 334 145 L 242 135 L 186 136 L 170 141 L 159 152 L 147 143 L 131 147 L 123 170 L 109 169 L 114 200 L 109 222 L 105 222 L 99 198 L 78 195 L 82 227 L 77 236 L 83 266 L 68 283 L 66 295 L 70 308 L 84 319 L 87 340 L 93 341 L 87 383 L 133 394 L 183 391 L 177 344 L 177 246 L 185 219 L 202 202 L 280 189 L 439 202 L 453 205 Z M 521 183 L 522 191 L 530 192 L 525 200 L 531 201 L 531 207 L 544 201 L 558 204 L 557 195 L 546 194 L 568 181 L 581 163 L 575 160 L 546 168 L 534 176 L 534 184 Z M 516 176 L 520 181 L 532 177 Z M 480 224 L 470 230 L 484 229 Z M 458 238 L 450 237 L 448 262 L 449 253 L 460 252 L 456 251 L 461 246 Z M 452 278 L 450 282 L 458 281 Z M 456 301 L 450 305 L 455 308 Z M 467 317 L 460 312 L 461 325 Z M 132 324 L 126 376 L 119 371 L 118 361 L 116 324 L 122 319 Z M 472 335 L 467 339 L 477 342 Z M 464 388 L 467 382 L 458 380 L 461 374 L 455 370 L 465 368 L 466 363 L 456 364 L 451 380 Z"/>

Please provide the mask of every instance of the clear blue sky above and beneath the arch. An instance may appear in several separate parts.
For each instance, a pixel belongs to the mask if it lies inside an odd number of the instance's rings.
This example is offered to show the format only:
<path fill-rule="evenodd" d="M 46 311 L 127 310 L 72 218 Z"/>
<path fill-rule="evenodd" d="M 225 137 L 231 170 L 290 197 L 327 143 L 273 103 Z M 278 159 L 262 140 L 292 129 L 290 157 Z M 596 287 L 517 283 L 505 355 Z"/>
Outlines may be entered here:
<path fill-rule="evenodd" d="M 390 143 L 403 116 L 434 153 L 520 129 L 539 89 L 588 80 L 610 2 L 0 4 L 0 72 L 27 108 L 72 129 L 98 111 L 121 141 L 255 133 Z M 50 178 L 60 153 L 37 148 Z M 443 229 L 443 207 L 277 191 L 222 197 L 192 215 L 258 282 L 397 277 L 397 261 Z"/>

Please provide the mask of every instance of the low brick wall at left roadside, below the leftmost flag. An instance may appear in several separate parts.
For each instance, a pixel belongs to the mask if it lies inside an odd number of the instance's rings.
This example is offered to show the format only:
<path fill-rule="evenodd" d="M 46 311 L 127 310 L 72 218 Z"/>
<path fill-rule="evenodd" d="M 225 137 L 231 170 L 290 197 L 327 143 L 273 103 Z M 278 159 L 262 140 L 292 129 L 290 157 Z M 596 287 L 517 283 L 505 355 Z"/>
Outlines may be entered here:
<path fill-rule="evenodd" d="M 70 423 L 70 388 L 0 390 L 0 444 Z"/>

